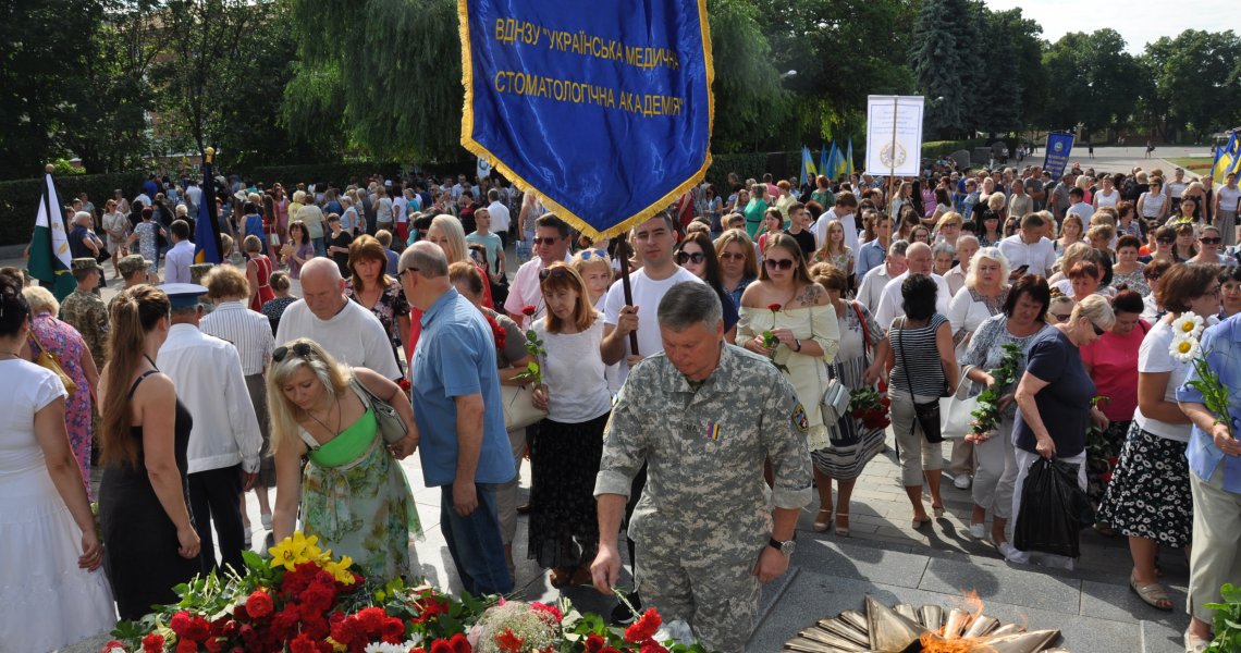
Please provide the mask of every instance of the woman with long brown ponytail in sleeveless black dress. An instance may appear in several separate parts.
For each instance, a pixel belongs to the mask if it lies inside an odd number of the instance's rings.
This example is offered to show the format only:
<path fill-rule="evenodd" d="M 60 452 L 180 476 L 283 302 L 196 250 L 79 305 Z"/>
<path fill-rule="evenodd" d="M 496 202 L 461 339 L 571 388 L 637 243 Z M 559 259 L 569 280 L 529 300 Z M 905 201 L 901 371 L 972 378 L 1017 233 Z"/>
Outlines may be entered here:
<path fill-rule="evenodd" d="M 120 293 L 101 376 L 103 565 L 123 619 L 175 602 L 172 587 L 200 570 L 199 534 L 186 504 L 190 412 L 154 363 L 168 339 L 170 310 L 159 288 Z"/>

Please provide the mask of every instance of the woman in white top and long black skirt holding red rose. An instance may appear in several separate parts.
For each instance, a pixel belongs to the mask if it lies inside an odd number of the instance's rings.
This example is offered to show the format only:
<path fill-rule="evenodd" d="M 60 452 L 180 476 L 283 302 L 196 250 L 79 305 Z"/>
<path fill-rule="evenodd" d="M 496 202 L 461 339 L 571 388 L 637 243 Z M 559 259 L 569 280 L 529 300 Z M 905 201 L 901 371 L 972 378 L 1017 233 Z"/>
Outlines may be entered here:
<path fill-rule="evenodd" d="M 552 587 L 589 585 L 599 544 L 594 477 L 603 456 L 603 427 L 612 392 L 603 376 L 602 315 L 591 305 L 582 277 L 556 262 L 539 273 L 547 314 L 532 330 L 546 354 L 535 406 L 547 411 L 530 444 L 529 557 L 551 569 Z"/>

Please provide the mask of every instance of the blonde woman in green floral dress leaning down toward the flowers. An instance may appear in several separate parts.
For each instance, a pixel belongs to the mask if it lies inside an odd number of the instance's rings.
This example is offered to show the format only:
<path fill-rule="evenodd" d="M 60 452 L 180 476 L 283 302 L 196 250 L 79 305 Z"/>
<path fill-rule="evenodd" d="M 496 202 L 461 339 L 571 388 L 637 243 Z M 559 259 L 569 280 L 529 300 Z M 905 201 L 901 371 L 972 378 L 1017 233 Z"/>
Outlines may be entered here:
<path fill-rule="evenodd" d="M 385 444 L 360 385 L 396 408 L 408 431 L 405 439 Z M 276 457 L 276 540 L 293 535 L 300 504 L 302 530 L 351 557 L 364 576 L 408 576 L 410 534 L 421 535 L 422 529 L 410 483 L 393 459 L 418 446 L 405 392 L 298 338 L 272 353 L 267 401 Z M 303 457 L 309 459 L 304 469 Z"/>

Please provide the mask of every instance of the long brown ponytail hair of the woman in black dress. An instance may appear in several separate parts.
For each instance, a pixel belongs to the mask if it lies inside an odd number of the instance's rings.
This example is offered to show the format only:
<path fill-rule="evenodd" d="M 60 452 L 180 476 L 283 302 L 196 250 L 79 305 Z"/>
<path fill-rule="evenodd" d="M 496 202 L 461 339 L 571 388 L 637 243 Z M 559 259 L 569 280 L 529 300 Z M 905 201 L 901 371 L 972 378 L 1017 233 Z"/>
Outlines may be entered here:
<path fill-rule="evenodd" d="M 108 389 L 102 412 L 99 462 L 138 467 L 138 439 L 130 435 L 129 380 L 141 363 L 146 334 L 169 317 L 164 290 L 146 284 L 123 290 L 112 304 L 108 365 L 102 385 Z"/>

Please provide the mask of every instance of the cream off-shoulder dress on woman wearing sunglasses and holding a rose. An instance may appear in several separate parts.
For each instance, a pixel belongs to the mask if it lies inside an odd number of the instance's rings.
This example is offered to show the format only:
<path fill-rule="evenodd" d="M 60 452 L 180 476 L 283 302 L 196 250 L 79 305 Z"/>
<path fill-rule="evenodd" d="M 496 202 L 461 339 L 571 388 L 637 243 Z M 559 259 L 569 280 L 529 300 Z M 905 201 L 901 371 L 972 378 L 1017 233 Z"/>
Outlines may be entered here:
<path fill-rule="evenodd" d="M 797 391 L 797 400 L 805 408 L 805 417 L 810 423 L 807 433 L 807 446 L 810 451 L 825 448 L 828 442 L 828 427 L 823 425 L 823 416 L 819 413 L 819 400 L 827 387 L 828 375 L 824 364 L 831 363 L 840 346 L 840 325 L 836 323 L 836 310 L 831 304 L 822 307 L 792 308 L 772 312 L 767 308 L 741 308 L 741 320 L 737 323 L 737 343 L 761 336 L 766 330 L 773 328 L 787 328 L 793 331 L 793 336 L 803 343 L 814 340 L 823 348 L 822 356 L 808 356 L 798 354 L 792 349 L 778 345 L 776 348 L 776 363 L 788 367 L 784 377 Z"/>

